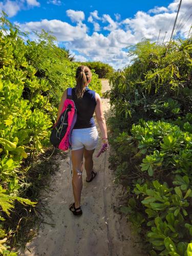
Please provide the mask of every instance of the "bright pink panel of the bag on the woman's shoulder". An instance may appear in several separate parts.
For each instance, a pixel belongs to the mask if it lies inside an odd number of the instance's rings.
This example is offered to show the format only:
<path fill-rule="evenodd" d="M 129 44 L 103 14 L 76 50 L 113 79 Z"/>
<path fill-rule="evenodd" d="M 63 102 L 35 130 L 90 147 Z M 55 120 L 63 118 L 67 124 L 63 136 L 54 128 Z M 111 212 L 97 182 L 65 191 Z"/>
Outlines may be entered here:
<path fill-rule="evenodd" d="M 68 128 L 67 128 L 67 132 L 66 132 L 65 136 L 62 138 L 62 140 L 61 140 L 61 142 L 60 142 L 60 144 L 58 146 L 58 148 L 60 150 L 63 150 L 63 151 L 67 151 L 70 148 L 69 136 L 70 136 L 70 131 L 71 131 L 71 124 L 72 124 L 73 117 L 74 117 L 74 114 L 75 114 L 75 105 L 74 105 L 73 100 L 70 100 L 70 99 L 66 99 L 65 100 L 61 113 L 63 113 L 63 111 L 65 111 L 67 109 L 69 104 L 72 105 L 72 108 L 71 108 L 71 111 L 68 112 Z"/>

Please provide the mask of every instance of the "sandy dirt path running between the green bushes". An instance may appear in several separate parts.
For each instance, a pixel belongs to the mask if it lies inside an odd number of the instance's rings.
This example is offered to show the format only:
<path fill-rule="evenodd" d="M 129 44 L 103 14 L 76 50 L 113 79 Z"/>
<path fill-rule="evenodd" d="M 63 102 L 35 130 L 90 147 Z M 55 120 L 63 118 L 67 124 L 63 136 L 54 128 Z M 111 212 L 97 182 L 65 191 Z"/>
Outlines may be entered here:
<path fill-rule="evenodd" d="M 102 92 L 109 90 L 108 80 L 102 79 Z M 102 99 L 105 115 L 109 114 L 108 99 Z M 100 139 L 95 156 L 100 148 Z M 105 154 L 105 155 L 104 155 Z M 130 224 L 114 209 L 118 206 L 121 188 L 114 184 L 114 174 L 108 168 L 109 151 L 98 159 L 94 157 L 94 168 L 98 175 L 87 183 L 83 170 L 81 196 L 82 216 L 73 216 L 68 206 L 73 202 L 69 154 L 66 159 L 58 159 L 60 167 L 52 177 L 51 191 L 47 207 L 52 211 L 52 219 L 45 216 L 37 236 L 27 244 L 20 255 L 46 256 L 134 256 L 143 255 L 138 239 L 131 233 Z"/>

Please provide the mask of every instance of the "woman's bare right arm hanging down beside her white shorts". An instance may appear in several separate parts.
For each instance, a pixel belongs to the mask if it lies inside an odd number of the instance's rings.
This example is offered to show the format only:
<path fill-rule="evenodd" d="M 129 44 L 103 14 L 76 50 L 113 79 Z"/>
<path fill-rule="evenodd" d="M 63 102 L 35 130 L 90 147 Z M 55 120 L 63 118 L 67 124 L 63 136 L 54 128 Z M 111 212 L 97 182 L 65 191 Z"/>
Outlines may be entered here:
<path fill-rule="evenodd" d="M 108 134 L 106 131 L 106 123 L 103 115 L 102 109 L 102 101 L 98 93 L 95 93 L 96 107 L 95 107 L 95 115 L 97 119 L 97 123 L 99 125 L 99 129 L 101 132 L 102 138 L 108 138 Z"/>

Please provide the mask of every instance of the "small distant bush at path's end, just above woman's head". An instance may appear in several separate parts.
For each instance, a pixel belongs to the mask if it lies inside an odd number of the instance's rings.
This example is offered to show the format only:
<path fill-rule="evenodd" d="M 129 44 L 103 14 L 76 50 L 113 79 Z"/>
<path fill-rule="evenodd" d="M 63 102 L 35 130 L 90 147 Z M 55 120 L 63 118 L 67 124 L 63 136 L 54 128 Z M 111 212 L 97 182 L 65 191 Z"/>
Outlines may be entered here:
<path fill-rule="evenodd" d="M 107 78 L 114 71 L 108 63 L 102 63 L 100 61 L 81 62 L 81 65 L 89 67 L 99 76 L 99 78 Z"/>

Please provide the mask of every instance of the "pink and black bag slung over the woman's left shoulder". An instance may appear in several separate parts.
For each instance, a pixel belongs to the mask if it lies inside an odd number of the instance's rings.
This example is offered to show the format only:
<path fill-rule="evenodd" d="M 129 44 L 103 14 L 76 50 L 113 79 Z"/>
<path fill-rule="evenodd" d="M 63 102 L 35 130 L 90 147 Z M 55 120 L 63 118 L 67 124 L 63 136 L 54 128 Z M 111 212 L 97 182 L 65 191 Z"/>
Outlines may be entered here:
<path fill-rule="evenodd" d="M 72 88 L 67 89 L 61 115 L 53 126 L 50 142 L 54 147 L 67 151 L 71 148 L 71 133 L 77 120 L 77 110 L 72 100 Z"/>

